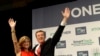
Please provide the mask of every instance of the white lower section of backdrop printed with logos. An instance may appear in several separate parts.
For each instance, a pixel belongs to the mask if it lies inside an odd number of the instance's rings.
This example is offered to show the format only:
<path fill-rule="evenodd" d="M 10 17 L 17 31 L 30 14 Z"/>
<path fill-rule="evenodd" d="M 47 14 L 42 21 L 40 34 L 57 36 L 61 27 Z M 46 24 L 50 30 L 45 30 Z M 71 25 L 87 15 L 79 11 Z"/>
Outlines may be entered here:
<path fill-rule="evenodd" d="M 96 56 L 100 55 L 100 21 L 66 25 L 61 39 L 55 47 L 55 56 Z M 58 26 L 41 28 L 47 39 L 52 38 Z M 33 46 L 37 43 L 34 29 Z"/>

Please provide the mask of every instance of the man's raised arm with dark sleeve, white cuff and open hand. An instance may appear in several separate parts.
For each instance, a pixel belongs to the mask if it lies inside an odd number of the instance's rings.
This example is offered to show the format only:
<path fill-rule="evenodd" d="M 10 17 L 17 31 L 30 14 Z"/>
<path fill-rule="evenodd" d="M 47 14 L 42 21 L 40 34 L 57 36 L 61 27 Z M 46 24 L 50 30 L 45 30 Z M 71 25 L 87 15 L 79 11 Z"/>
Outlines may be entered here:
<path fill-rule="evenodd" d="M 52 38 L 52 46 L 55 46 L 57 44 L 57 42 L 60 40 L 62 32 L 63 32 L 65 25 L 70 16 L 69 8 L 65 8 L 64 12 L 62 11 L 62 16 L 63 16 L 63 19 L 61 21 L 61 24 L 59 25 L 58 29 L 56 30 L 56 32 Z"/>

